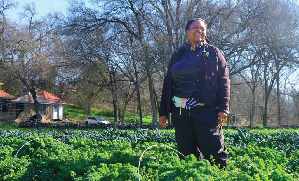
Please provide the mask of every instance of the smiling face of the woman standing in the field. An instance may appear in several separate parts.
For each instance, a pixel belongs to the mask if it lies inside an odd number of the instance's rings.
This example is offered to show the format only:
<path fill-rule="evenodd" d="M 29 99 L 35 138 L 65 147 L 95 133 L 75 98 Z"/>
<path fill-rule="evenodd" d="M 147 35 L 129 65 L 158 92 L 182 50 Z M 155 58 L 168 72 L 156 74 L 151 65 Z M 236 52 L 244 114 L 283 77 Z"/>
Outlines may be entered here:
<path fill-rule="evenodd" d="M 197 45 L 199 42 L 205 39 L 206 27 L 204 22 L 200 20 L 194 21 L 186 33 L 190 37 L 191 44 Z"/>

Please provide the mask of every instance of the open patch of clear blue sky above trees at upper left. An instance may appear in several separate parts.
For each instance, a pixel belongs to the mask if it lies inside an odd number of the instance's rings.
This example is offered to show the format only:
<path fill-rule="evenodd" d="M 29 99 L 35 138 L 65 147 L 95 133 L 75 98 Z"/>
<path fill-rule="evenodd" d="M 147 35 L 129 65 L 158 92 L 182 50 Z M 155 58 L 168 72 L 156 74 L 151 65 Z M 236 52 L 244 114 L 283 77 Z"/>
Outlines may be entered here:
<path fill-rule="evenodd" d="M 22 5 L 34 2 L 36 4 L 36 11 L 38 13 L 37 16 L 45 16 L 46 13 L 50 12 L 49 8 L 54 10 L 65 9 L 65 5 L 67 5 L 66 1 L 63 0 L 15 0 L 19 2 L 19 6 L 17 9 L 11 9 L 6 12 L 7 18 L 18 21 L 18 12 L 22 12 Z"/>

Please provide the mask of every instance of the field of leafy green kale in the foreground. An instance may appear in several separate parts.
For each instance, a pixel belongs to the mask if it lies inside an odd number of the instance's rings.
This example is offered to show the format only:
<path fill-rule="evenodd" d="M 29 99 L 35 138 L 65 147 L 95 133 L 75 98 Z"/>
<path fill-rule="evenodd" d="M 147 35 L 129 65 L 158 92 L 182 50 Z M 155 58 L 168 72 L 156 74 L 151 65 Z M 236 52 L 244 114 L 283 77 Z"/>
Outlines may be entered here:
<path fill-rule="evenodd" d="M 298 132 L 251 133 L 239 128 L 224 135 L 225 170 L 205 159 L 197 162 L 193 155 L 179 160 L 176 151 L 154 146 L 142 157 L 140 180 L 299 180 Z M 21 181 L 137 181 L 144 150 L 153 145 L 177 150 L 173 132 L 140 129 L 131 133 L 0 130 L 0 143 L 0 180 Z"/>

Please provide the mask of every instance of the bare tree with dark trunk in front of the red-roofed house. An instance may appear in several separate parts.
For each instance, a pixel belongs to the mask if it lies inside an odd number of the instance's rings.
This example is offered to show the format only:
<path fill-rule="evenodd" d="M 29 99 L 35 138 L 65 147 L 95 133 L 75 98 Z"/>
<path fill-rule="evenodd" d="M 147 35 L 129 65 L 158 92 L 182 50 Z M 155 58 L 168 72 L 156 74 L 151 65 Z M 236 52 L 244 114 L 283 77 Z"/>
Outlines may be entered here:
<path fill-rule="evenodd" d="M 25 4 L 20 18 L 25 20 L 23 25 L 15 25 L 9 32 L 10 60 L 5 62 L 5 71 L 15 79 L 20 80 L 31 93 L 37 117 L 40 117 L 35 86 L 40 82 L 51 79 L 53 57 L 51 49 L 60 39 L 54 34 L 59 14 L 49 13 L 48 16 L 36 19 L 34 3 Z"/>

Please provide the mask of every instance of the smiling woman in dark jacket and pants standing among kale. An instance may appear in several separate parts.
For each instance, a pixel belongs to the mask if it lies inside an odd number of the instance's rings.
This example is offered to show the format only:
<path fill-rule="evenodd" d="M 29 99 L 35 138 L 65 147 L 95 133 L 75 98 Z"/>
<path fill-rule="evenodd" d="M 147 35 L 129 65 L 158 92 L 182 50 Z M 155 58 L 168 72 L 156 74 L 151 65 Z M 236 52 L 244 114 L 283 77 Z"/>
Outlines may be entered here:
<path fill-rule="evenodd" d="M 191 19 L 184 46 L 171 57 L 164 80 L 159 111 L 162 127 L 172 112 L 178 151 L 193 154 L 223 168 L 227 165 L 222 123 L 229 114 L 230 83 L 226 61 L 213 45 L 205 41 L 206 22 Z M 184 159 L 179 154 L 180 159 Z M 214 164 L 211 162 L 211 165 Z"/>

